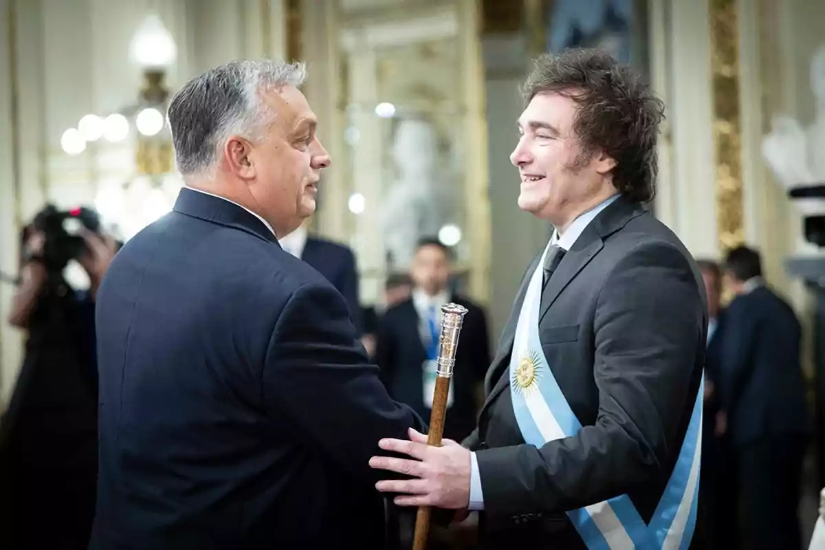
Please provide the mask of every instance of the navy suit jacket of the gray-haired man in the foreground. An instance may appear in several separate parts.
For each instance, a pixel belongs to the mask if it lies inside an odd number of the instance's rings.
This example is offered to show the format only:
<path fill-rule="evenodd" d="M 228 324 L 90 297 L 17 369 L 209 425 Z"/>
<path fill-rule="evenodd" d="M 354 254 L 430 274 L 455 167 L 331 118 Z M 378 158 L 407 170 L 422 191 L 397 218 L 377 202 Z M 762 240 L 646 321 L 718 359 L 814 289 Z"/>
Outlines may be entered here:
<path fill-rule="evenodd" d="M 97 342 L 91 548 L 384 548 L 369 459 L 424 426 L 255 216 L 181 190 L 115 256 Z"/>

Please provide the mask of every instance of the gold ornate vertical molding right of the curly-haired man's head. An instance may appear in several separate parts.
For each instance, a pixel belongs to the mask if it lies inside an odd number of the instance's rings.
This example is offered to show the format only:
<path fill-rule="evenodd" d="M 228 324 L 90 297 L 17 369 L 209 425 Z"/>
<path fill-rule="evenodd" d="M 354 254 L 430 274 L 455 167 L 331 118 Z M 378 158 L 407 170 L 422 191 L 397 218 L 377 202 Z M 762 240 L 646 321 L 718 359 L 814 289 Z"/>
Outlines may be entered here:
<path fill-rule="evenodd" d="M 739 26 L 735 0 L 710 0 L 714 179 L 719 250 L 745 240 L 739 106 Z"/>

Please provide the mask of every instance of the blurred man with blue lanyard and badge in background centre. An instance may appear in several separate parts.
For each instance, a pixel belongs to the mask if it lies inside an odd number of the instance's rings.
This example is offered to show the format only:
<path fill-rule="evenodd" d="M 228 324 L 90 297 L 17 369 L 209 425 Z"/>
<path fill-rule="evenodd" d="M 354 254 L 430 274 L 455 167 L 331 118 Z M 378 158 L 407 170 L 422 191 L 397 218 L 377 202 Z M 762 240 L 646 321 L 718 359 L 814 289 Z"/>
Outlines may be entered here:
<path fill-rule="evenodd" d="M 487 318 L 472 300 L 450 293 L 450 251 L 437 239 L 427 238 L 418 243 L 411 275 L 412 295 L 389 308 L 381 318 L 375 362 L 394 399 L 407 403 L 429 422 L 441 306 L 455 302 L 467 308 L 444 426 L 445 437 L 463 440 L 475 427 L 481 385 L 490 364 Z"/>

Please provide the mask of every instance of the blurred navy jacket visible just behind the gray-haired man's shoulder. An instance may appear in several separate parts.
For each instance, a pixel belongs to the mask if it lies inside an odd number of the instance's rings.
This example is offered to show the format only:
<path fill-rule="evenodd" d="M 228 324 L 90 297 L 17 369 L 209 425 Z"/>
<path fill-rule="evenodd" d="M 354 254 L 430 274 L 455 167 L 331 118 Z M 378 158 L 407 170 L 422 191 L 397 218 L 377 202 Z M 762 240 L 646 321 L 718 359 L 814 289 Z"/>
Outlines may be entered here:
<path fill-rule="evenodd" d="M 349 247 L 320 237 L 307 237 L 301 260 L 313 266 L 327 278 L 347 300 L 352 324 L 358 336 L 364 333 L 363 314 L 358 299 L 358 270 L 356 256 Z"/>

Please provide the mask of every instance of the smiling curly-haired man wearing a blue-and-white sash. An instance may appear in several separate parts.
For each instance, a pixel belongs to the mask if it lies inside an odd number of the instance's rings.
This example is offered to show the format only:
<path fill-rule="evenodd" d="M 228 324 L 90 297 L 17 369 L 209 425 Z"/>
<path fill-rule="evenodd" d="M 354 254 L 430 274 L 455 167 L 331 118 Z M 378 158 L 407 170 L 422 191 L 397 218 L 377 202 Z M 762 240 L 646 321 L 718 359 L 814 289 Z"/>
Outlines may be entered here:
<path fill-rule="evenodd" d="M 662 102 L 608 54 L 544 55 L 510 158 L 553 225 L 526 270 L 462 445 L 382 440 L 399 505 L 483 510 L 484 548 L 686 548 L 695 526 L 708 316 L 653 199 Z"/>

